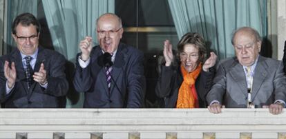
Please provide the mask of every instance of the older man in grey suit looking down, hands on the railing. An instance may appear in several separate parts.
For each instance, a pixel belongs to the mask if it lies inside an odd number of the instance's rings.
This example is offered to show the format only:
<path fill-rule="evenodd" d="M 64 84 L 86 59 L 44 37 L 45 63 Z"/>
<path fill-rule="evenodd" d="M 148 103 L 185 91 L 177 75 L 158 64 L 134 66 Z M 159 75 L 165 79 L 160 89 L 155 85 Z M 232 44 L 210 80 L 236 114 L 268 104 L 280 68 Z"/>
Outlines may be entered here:
<path fill-rule="evenodd" d="M 209 111 L 229 108 L 269 107 L 271 114 L 280 114 L 285 107 L 286 78 L 283 63 L 259 55 L 261 38 L 258 32 L 243 27 L 233 34 L 236 57 L 223 60 L 207 95 Z"/>

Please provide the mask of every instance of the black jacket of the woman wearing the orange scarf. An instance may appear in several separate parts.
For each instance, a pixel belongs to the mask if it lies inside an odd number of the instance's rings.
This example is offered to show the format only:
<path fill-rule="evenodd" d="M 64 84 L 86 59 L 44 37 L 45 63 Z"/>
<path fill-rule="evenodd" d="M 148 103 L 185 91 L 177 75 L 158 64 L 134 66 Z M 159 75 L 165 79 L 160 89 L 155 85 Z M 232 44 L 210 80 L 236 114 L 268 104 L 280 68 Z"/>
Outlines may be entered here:
<path fill-rule="evenodd" d="M 207 107 L 205 96 L 212 85 L 214 76 L 214 68 L 210 68 L 209 72 L 200 72 L 196 79 L 196 91 L 198 93 L 200 107 Z M 164 98 L 165 107 L 174 108 L 177 105 L 178 93 L 183 81 L 180 66 L 166 67 L 162 65 L 162 72 L 159 76 L 155 92 L 159 98 Z"/>

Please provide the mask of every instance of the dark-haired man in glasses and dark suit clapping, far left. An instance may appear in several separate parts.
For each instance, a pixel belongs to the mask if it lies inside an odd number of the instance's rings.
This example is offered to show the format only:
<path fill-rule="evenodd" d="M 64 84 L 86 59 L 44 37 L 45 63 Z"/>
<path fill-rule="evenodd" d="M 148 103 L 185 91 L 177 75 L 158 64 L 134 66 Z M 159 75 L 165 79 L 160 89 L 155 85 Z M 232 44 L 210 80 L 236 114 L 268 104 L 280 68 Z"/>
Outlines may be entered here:
<path fill-rule="evenodd" d="M 39 22 L 30 13 L 13 22 L 17 49 L 0 58 L 2 107 L 59 107 L 59 97 L 67 93 L 65 58 L 38 47 L 39 32 Z"/>

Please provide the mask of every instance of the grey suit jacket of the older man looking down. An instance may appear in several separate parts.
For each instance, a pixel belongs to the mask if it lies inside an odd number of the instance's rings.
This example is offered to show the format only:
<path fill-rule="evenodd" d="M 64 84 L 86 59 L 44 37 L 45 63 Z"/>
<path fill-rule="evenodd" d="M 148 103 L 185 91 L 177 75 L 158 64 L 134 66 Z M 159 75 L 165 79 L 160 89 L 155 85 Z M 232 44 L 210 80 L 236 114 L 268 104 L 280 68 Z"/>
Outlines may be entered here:
<path fill-rule="evenodd" d="M 208 103 L 218 100 L 225 107 L 247 107 L 247 81 L 243 67 L 236 57 L 221 62 L 213 83 L 207 95 Z M 263 107 L 275 100 L 286 100 L 283 63 L 259 56 L 254 69 L 251 101 L 256 107 Z"/>

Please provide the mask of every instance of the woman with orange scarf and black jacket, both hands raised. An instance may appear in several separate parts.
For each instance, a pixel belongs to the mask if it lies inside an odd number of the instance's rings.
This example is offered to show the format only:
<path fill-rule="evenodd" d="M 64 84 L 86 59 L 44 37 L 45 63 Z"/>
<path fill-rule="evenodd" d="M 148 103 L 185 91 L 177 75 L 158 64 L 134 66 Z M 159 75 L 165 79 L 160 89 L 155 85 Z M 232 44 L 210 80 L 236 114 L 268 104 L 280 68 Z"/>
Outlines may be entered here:
<path fill-rule="evenodd" d="M 216 54 L 207 57 L 204 39 L 198 33 L 187 33 L 178 43 L 179 64 L 169 40 L 164 41 L 164 59 L 155 92 L 164 98 L 165 107 L 207 107 L 205 96 L 211 88 Z"/>

